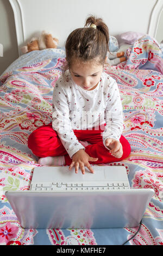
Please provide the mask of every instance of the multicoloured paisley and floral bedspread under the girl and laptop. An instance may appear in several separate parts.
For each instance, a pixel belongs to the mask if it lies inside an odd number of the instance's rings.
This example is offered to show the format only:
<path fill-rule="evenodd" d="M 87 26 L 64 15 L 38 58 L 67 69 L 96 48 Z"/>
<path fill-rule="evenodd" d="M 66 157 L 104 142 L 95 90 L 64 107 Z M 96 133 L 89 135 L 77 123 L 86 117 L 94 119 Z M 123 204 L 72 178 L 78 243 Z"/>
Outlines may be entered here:
<path fill-rule="evenodd" d="M 37 157 L 29 134 L 52 121 L 52 94 L 65 62 L 64 49 L 35 51 L 16 60 L 0 77 L 0 245 L 120 245 L 137 231 L 122 229 L 23 229 L 5 198 L 28 190 Z M 155 194 L 139 233 L 127 245 L 163 245 L 162 94 L 163 53 L 149 36 L 127 50 L 127 61 L 105 66 L 121 93 L 123 135 L 131 154 L 122 162 L 130 186 Z"/>

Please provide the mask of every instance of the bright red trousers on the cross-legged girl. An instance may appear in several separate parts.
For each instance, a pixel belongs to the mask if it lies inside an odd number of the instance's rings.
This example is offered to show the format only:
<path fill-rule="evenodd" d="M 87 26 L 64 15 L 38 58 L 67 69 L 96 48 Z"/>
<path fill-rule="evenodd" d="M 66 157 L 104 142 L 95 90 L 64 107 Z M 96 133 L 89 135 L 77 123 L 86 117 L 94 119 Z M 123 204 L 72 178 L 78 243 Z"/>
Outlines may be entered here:
<path fill-rule="evenodd" d="M 92 130 L 73 130 L 78 141 L 87 141 L 91 143 L 91 145 L 87 145 L 85 152 L 91 157 L 98 157 L 98 160 L 90 163 L 110 163 L 126 159 L 131 151 L 130 144 L 127 139 L 121 136 L 120 142 L 123 148 L 123 155 L 120 159 L 117 159 L 109 153 L 108 149 L 105 148 L 102 138 L 103 131 L 104 130 L 101 129 L 95 130 L 95 128 L 92 128 Z M 41 126 L 33 131 L 28 138 L 28 147 L 37 157 L 65 155 L 65 164 L 70 166 L 72 162 L 72 159 L 67 154 L 57 132 L 53 130 L 52 123 Z"/>

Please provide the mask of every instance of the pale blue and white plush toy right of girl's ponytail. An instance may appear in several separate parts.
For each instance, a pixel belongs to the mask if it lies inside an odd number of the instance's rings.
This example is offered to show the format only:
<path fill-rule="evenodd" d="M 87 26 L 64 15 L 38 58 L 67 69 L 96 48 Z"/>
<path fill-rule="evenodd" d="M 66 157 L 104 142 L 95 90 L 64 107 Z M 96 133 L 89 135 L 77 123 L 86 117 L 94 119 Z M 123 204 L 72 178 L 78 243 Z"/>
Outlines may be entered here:
<path fill-rule="evenodd" d="M 107 53 L 107 63 L 111 66 L 117 65 L 121 62 L 126 61 L 124 52 L 118 52 L 119 46 L 118 41 L 114 36 L 109 36 L 109 52 Z"/>

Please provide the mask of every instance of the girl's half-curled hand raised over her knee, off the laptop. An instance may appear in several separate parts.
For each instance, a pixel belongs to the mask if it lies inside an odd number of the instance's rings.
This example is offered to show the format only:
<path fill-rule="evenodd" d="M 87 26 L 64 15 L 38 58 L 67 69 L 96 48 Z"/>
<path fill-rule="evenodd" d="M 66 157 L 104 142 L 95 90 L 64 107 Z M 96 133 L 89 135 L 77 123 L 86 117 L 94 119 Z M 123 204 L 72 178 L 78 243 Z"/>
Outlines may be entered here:
<path fill-rule="evenodd" d="M 123 155 L 123 149 L 121 142 L 116 139 L 108 138 L 105 141 L 105 145 L 108 149 L 110 149 L 110 153 L 112 156 L 116 158 L 121 158 Z"/>

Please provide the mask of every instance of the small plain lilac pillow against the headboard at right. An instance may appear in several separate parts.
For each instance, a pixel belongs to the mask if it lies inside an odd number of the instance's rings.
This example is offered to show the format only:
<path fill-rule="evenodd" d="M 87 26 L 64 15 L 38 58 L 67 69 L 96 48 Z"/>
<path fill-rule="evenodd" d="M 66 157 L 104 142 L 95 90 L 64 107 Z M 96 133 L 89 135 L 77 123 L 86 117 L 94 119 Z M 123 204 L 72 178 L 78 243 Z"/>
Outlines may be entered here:
<path fill-rule="evenodd" d="M 129 32 L 126 32 L 126 33 L 122 33 L 120 35 L 120 40 L 123 43 L 129 44 L 129 45 L 133 45 L 134 42 L 136 40 L 138 40 L 139 38 L 141 38 L 143 35 L 145 35 L 145 34 L 129 31 Z"/>

